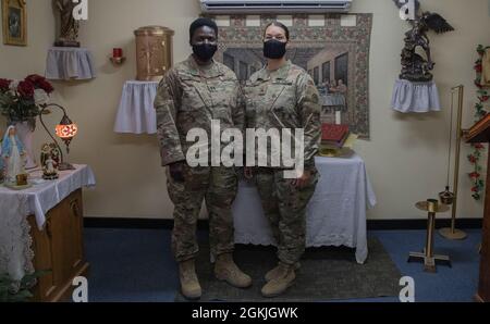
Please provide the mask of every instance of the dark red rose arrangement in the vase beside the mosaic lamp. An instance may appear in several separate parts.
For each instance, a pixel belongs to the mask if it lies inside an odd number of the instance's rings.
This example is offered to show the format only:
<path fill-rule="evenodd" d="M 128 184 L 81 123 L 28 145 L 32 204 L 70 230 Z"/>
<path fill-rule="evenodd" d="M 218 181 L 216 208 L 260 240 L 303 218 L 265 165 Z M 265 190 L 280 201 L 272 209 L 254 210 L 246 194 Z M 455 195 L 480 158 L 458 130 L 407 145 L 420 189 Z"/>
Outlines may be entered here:
<path fill-rule="evenodd" d="M 10 122 L 33 121 L 39 105 L 46 103 L 54 90 L 42 76 L 28 75 L 21 82 L 0 78 L 0 111 Z"/>

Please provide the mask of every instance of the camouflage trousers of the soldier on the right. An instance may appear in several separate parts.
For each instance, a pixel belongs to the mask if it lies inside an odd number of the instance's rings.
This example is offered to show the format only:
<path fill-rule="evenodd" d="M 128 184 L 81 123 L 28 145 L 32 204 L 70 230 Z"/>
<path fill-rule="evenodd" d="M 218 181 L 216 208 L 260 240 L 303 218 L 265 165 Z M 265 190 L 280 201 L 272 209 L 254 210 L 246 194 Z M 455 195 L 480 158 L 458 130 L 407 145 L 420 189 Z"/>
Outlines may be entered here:
<path fill-rule="evenodd" d="M 301 189 L 284 178 L 283 170 L 258 167 L 254 172 L 264 213 L 278 244 L 278 258 L 286 264 L 299 261 L 305 251 L 306 207 L 319 178 L 315 166 L 309 171 L 309 183 Z"/>

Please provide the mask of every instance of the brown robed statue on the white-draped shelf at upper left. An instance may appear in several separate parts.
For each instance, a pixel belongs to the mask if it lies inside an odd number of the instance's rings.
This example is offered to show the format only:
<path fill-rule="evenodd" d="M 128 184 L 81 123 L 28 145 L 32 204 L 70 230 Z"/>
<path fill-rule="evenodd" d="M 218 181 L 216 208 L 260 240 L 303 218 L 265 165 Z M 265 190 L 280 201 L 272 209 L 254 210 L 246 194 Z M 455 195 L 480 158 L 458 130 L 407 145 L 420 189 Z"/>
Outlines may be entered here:
<path fill-rule="evenodd" d="M 79 22 L 73 17 L 73 10 L 78 4 L 73 0 L 53 0 L 53 5 L 60 13 L 60 33 L 54 46 L 79 47 L 77 41 Z"/>

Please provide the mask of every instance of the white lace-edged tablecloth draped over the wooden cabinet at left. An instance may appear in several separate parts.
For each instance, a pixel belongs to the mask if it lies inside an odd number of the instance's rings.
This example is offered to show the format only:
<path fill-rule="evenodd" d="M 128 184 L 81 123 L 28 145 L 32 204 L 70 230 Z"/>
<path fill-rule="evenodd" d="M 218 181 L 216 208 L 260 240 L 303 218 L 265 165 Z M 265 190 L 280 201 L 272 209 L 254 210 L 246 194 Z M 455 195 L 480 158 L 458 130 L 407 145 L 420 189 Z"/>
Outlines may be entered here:
<path fill-rule="evenodd" d="M 0 186 L 0 273 L 21 279 L 33 272 L 30 226 L 27 216 L 34 214 L 39 229 L 46 213 L 78 188 L 94 186 L 95 176 L 87 165 L 74 165 L 75 171 L 60 172 L 57 180 L 44 182 L 15 191 Z M 41 171 L 30 174 L 29 182 L 41 182 Z"/>

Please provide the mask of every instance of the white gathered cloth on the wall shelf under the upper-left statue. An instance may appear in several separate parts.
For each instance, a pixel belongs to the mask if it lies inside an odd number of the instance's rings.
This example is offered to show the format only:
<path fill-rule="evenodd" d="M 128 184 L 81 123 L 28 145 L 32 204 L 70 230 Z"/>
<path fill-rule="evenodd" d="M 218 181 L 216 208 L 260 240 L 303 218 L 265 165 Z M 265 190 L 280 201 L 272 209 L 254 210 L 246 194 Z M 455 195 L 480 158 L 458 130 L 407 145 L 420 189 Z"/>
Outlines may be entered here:
<path fill-rule="evenodd" d="M 90 79 L 96 77 L 94 58 L 86 48 L 52 47 L 46 59 L 48 79 Z"/>

